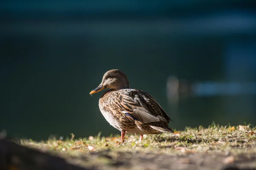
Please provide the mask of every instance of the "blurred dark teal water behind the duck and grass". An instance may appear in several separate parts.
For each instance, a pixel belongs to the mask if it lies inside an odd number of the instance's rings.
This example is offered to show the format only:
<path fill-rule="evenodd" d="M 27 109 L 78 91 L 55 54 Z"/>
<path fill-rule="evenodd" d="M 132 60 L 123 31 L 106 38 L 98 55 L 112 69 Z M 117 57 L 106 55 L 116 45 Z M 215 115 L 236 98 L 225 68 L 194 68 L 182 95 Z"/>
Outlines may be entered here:
<path fill-rule="evenodd" d="M 0 2 L 0 130 L 48 139 L 119 133 L 90 96 L 117 68 L 170 127 L 256 125 L 252 0 Z"/>

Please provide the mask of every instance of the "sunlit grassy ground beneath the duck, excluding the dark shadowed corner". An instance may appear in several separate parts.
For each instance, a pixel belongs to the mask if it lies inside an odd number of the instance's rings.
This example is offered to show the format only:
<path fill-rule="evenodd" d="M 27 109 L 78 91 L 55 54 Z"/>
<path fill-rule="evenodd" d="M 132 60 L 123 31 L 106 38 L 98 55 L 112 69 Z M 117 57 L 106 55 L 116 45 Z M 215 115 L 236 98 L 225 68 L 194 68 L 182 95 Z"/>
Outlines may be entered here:
<path fill-rule="evenodd" d="M 234 127 L 212 123 L 208 128 L 187 127 L 175 133 L 145 135 L 142 142 L 138 141 L 138 135 L 127 135 L 124 144 L 120 144 L 119 140 L 120 136 L 101 137 L 100 133 L 94 137 L 74 139 L 72 134 L 71 139 L 49 139 L 41 142 L 22 139 L 20 144 L 61 156 L 72 164 L 96 169 L 141 169 L 137 166 L 145 160 L 148 164 L 143 167 L 147 167 L 151 162 L 173 164 L 176 159 L 176 162 L 181 162 L 182 165 L 192 161 L 194 163 L 191 166 L 196 166 L 196 169 L 200 169 L 198 166 L 201 166 L 201 159 L 209 169 L 212 169 L 212 162 L 215 162 L 215 168 L 216 163 L 218 166 L 224 166 L 237 165 L 239 162 L 241 165 L 244 163 L 244 166 L 256 168 L 256 127 L 250 125 Z M 211 156 L 209 160 L 207 156 Z M 134 163 L 138 160 L 141 161 Z M 185 163 L 182 163 L 184 161 Z M 166 164 L 166 167 L 168 166 Z"/>

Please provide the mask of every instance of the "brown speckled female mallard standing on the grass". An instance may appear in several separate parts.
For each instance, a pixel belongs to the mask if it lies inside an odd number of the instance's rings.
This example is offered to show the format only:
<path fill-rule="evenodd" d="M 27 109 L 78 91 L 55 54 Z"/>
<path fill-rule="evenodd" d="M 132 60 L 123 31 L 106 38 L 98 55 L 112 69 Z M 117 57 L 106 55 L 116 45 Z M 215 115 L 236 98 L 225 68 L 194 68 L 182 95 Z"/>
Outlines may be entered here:
<path fill-rule="evenodd" d="M 169 126 L 170 118 L 157 101 L 148 93 L 129 88 L 126 75 L 120 70 L 107 71 L 102 82 L 90 94 L 110 88 L 99 99 L 99 110 L 105 119 L 121 131 L 121 143 L 125 132 L 144 134 L 174 132 Z"/>

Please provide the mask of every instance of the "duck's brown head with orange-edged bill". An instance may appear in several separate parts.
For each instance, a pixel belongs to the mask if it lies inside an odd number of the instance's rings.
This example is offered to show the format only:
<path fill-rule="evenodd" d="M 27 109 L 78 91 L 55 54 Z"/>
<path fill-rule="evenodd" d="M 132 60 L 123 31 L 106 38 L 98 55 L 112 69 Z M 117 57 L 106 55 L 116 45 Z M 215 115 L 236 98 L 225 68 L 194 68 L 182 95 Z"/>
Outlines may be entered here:
<path fill-rule="evenodd" d="M 90 94 L 95 94 L 102 91 L 105 88 L 111 88 L 113 90 L 120 90 L 124 88 L 129 88 L 129 81 L 127 76 L 120 70 L 114 69 L 107 71 L 100 85 L 90 92 Z"/>

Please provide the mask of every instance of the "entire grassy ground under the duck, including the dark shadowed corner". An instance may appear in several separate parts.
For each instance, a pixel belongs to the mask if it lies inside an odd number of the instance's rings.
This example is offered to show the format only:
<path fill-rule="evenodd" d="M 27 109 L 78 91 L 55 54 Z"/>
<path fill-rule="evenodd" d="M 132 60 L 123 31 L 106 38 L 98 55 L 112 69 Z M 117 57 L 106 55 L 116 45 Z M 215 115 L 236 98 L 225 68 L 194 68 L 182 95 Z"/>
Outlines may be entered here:
<path fill-rule="evenodd" d="M 187 128 L 175 134 L 34 142 L 0 140 L 4 170 L 256 170 L 256 130 Z"/>

